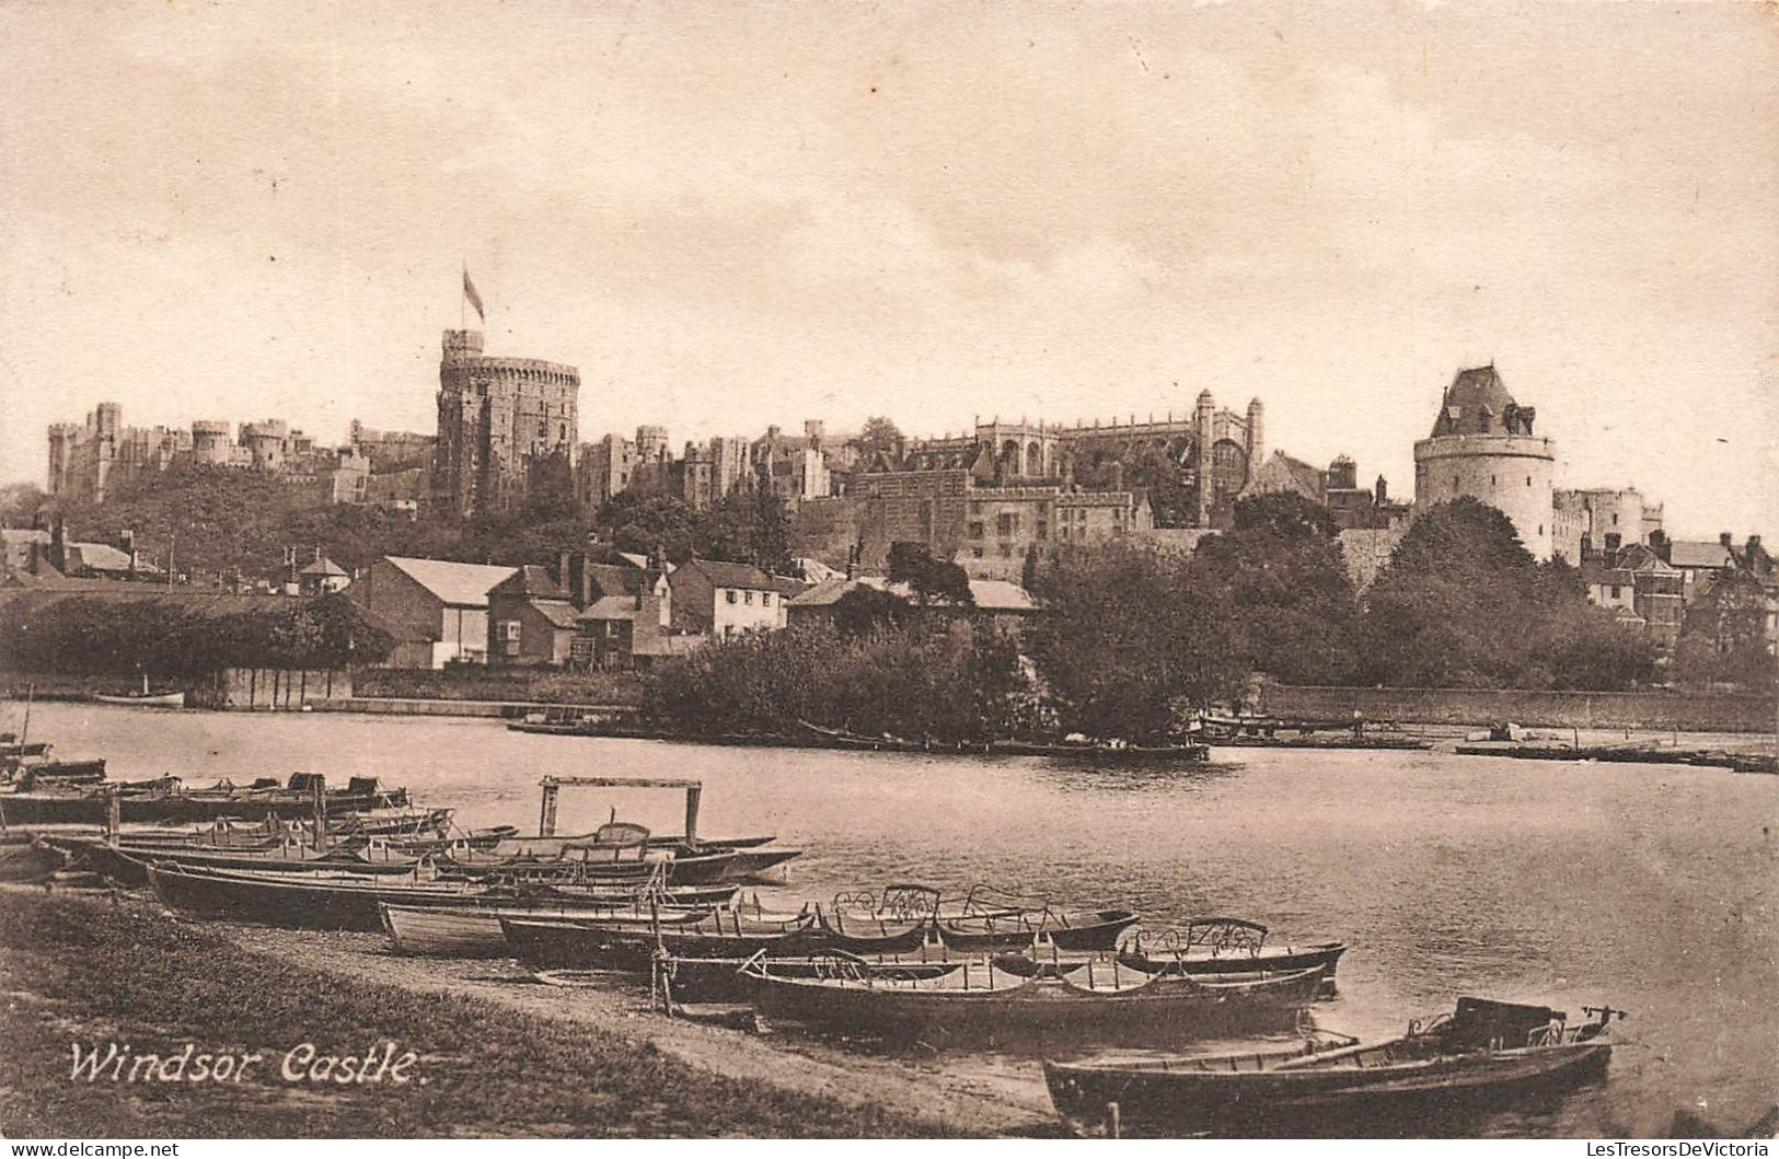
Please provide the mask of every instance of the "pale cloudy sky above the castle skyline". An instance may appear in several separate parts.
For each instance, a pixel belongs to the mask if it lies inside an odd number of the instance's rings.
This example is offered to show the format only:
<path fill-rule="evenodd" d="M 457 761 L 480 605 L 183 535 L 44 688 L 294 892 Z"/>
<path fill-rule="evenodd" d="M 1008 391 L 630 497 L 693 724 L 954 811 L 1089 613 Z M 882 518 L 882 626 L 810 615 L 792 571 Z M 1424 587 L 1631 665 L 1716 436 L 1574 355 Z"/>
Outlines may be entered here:
<path fill-rule="evenodd" d="M 1493 359 L 1560 485 L 1779 535 L 1775 11 L 14 0 L 0 482 L 101 400 L 431 432 L 466 265 L 584 441 L 1210 389 L 1405 498 Z"/>

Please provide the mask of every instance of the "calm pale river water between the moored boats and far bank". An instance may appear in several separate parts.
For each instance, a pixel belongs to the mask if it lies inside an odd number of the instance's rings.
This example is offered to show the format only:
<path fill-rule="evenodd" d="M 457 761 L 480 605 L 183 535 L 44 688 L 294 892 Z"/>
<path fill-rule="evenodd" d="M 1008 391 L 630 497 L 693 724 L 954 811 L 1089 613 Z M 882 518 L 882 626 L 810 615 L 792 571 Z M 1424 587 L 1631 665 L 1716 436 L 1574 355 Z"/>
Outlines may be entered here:
<path fill-rule="evenodd" d="M 12 716 L 18 715 L 14 706 Z M 16 729 L 16 720 L 7 722 Z M 1722 1129 L 1779 1102 L 1779 779 L 1430 752 L 1217 750 L 1201 768 L 720 748 L 509 732 L 491 720 L 39 704 L 32 736 L 121 779 L 375 775 L 463 825 L 535 832 L 543 775 L 697 777 L 708 837 L 806 850 L 792 889 L 994 882 L 1169 921 L 1236 915 L 1352 949 L 1316 1022 L 1400 1033 L 1459 994 L 1631 1011 L 1610 1079 L 1482 1131 Z M 616 809 L 680 832 L 667 791 L 568 789 L 560 832 Z"/>

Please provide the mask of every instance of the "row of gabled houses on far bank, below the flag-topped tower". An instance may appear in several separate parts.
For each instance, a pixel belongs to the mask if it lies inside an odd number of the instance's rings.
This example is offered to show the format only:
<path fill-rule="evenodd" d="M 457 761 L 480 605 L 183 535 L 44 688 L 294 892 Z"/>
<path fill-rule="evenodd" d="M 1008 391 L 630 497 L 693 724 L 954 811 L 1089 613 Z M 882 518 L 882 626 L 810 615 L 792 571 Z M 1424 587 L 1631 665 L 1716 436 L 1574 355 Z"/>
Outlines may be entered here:
<path fill-rule="evenodd" d="M 382 556 L 345 594 L 395 636 L 391 667 L 642 670 L 708 640 L 831 617 L 857 587 L 913 601 L 875 576 L 809 585 L 751 564 L 692 558 L 672 567 L 623 551 L 564 553 L 553 567 Z M 1009 581 L 971 581 L 971 595 L 975 606 L 957 611 L 996 629 L 1016 629 L 1035 610 Z"/>

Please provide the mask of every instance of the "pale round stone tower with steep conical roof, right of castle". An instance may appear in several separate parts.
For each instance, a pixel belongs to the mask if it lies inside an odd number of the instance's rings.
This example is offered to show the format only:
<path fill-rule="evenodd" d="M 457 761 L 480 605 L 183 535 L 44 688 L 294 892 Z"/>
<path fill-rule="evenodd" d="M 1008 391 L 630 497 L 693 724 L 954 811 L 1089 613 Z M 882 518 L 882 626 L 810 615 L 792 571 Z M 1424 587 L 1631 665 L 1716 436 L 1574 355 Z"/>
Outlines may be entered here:
<path fill-rule="evenodd" d="M 1507 393 L 1494 366 L 1461 370 L 1432 436 L 1414 444 L 1414 514 L 1471 496 L 1514 521 L 1519 542 L 1551 558 L 1557 448 L 1532 434 L 1533 407 Z"/>

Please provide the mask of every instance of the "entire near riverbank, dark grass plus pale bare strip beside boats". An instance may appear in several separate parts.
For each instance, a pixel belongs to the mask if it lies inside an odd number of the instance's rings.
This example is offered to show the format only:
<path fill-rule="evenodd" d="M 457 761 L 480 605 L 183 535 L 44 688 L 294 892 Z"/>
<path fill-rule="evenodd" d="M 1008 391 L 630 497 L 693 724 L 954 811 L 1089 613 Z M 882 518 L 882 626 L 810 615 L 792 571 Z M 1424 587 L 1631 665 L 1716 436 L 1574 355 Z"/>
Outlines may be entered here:
<path fill-rule="evenodd" d="M 669 1020 L 648 1011 L 642 988 L 564 992 L 511 963 L 397 958 L 379 935 L 197 924 L 133 896 L 0 887 L 0 988 L 11 1138 L 1053 1129 L 1041 1086 L 1034 1100 L 1026 1086 Z M 196 1051 L 183 1079 L 130 1083 L 125 1063 L 123 1079 L 87 1081 L 69 1077 L 76 1042 L 130 1043 L 135 1059 Z M 244 1079 L 192 1081 L 205 1052 L 263 1058 Z M 336 1067 L 315 1077 L 327 1058 L 377 1052 L 386 1065 L 370 1081 L 342 1083 Z"/>

